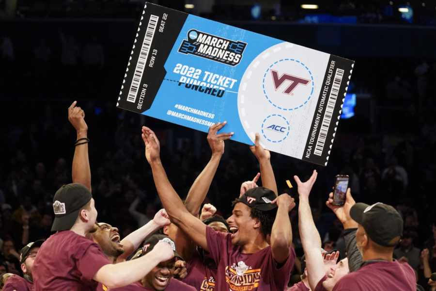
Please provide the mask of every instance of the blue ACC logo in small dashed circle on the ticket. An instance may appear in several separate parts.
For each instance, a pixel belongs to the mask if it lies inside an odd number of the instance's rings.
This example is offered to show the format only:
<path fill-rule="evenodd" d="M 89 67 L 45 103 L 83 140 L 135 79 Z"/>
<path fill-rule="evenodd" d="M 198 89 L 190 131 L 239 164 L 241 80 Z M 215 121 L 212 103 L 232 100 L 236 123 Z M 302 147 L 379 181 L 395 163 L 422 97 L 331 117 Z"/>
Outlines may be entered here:
<path fill-rule="evenodd" d="M 289 122 L 280 114 L 271 114 L 262 122 L 262 134 L 272 143 L 280 143 L 289 135 Z"/>

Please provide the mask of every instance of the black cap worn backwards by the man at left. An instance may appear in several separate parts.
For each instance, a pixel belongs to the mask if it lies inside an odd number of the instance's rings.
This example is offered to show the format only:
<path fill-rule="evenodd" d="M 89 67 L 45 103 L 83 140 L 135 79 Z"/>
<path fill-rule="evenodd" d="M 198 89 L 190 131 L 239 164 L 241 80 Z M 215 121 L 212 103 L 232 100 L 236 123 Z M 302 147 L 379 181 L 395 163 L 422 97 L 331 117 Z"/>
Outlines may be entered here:
<path fill-rule="evenodd" d="M 55 219 L 51 231 L 70 229 L 77 220 L 79 210 L 88 203 L 93 196 L 88 188 L 80 183 L 63 185 L 53 197 L 53 211 Z"/>

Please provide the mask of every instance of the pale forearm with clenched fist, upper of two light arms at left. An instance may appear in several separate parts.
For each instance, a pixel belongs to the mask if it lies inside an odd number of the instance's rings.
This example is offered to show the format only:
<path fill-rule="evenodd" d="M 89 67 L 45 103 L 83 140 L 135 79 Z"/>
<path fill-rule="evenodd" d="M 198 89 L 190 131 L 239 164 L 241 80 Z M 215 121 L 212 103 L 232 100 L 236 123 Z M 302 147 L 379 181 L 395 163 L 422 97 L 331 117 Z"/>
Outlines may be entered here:
<path fill-rule="evenodd" d="M 152 220 L 150 220 L 146 225 L 141 226 L 137 230 L 130 233 L 121 241 L 124 253 L 117 258 L 117 262 L 125 261 L 125 259 L 127 259 L 134 251 L 136 251 L 140 243 L 144 241 L 146 237 L 153 234 L 159 228 L 169 224 L 170 219 L 165 209 L 157 211 Z"/>

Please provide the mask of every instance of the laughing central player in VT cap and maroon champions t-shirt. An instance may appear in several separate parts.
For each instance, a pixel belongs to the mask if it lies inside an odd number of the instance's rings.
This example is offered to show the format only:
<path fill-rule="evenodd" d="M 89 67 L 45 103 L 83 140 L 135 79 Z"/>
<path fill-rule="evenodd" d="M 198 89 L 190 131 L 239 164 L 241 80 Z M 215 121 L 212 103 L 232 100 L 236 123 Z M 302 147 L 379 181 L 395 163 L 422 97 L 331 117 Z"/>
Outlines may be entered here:
<path fill-rule="evenodd" d="M 296 256 L 289 219 L 294 199 L 288 194 L 277 197 L 264 187 L 252 188 L 235 201 L 233 215 L 227 220 L 234 233 L 217 232 L 189 213 L 172 188 L 160 161 L 155 133 L 142 127 L 142 139 L 157 193 L 171 221 L 218 264 L 214 291 L 283 290 Z M 311 188 L 313 183 L 303 184 Z"/>

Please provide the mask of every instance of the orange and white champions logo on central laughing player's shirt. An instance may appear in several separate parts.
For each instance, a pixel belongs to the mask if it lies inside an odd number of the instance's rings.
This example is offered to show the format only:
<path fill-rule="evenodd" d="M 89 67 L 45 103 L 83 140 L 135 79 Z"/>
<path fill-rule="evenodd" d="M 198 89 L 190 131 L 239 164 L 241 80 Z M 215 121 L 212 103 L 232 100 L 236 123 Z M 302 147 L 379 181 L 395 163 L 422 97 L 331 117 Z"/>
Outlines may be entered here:
<path fill-rule="evenodd" d="M 226 267 L 226 282 L 230 290 L 250 291 L 259 286 L 261 269 L 251 269 L 245 262 L 239 261 L 236 265 Z"/>

